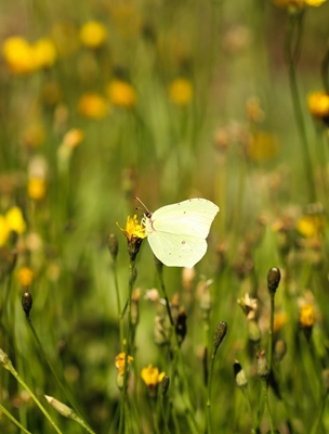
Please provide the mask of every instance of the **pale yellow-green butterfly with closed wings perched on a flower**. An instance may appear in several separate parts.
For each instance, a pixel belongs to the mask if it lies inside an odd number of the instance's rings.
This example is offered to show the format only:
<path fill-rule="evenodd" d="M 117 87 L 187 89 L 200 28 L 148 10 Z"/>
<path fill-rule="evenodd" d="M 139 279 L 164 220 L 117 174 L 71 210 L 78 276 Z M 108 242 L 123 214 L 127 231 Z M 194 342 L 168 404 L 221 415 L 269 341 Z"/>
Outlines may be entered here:
<path fill-rule="evenodd" d="M 196 197 L 154 213 L 143 206 L 146 213 L 142 224 L 155 256 L 168 267 L 193 268 L 207 252 L 206 238 L 220 210 L 218 205 Z"/>

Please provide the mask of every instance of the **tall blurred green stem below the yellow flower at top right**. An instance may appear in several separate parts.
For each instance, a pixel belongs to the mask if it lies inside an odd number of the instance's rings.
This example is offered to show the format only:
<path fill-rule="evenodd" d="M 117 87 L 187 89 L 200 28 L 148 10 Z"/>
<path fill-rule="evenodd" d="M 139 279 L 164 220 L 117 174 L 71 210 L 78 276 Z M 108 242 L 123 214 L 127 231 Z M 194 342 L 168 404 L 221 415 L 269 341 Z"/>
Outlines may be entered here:
<path fill-rule="evenodd" d="M 299 89 L 297 84 L 297 73 L 295 67 L 299 60 L 300 47 L 301 47 L 301 38 L 303 30 L 303 16 L 304 12 L 290 13 L 288 20 L 288 26 L 286 30 L 286 43 L 285 43 L 285 54 L 286 62 L 288 65 L 288 74 L 289 74 L 289 85 L 290 92 L 292 98 L 294 117 L 297 122 L 297 126 L 300 133 L 301 144 L 302 144 L 302 156 L 304 163 L 304 176 L 307 180 L 307 189 L 308 189 L 308 201 L 316 201 L 316 190 L 314 186 L 314 174 L 311 161 L 311 154 L 308 150 L 306 129 L 303 118 L 303 112 L 301 106 L 301 101 L 299 97 Z M 297 33 L 297 35 L 295 35 Z M 295 38 L 295 40 L 293 40 Z"/>

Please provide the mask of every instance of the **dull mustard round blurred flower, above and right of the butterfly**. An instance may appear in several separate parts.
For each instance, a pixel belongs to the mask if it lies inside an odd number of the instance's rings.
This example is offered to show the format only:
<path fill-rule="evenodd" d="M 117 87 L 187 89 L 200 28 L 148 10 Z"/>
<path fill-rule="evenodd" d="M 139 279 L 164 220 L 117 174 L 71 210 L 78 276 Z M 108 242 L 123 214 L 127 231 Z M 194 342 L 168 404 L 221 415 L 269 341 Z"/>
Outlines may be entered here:
<path fill-rule="evenodd" d="M 278 153 L 278 148 L 275 136 L 265 131 L 256 131 L 249 138 L 247 152 L 250 158 L 262 163 L 275 157 Z"/>

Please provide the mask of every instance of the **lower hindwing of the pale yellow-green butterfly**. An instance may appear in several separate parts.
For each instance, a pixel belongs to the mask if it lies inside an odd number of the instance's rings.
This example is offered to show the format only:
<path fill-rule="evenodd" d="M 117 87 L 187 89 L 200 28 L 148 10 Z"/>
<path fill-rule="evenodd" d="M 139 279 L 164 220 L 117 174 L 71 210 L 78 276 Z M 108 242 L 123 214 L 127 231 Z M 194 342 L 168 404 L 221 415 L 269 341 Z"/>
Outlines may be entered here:
<path fill-rule="evenodd" d="M 207 252 L 206 240 L 195 235 L 153 232 L 147 240 L 153 253 L 167 267 L 193 268 Z"/>

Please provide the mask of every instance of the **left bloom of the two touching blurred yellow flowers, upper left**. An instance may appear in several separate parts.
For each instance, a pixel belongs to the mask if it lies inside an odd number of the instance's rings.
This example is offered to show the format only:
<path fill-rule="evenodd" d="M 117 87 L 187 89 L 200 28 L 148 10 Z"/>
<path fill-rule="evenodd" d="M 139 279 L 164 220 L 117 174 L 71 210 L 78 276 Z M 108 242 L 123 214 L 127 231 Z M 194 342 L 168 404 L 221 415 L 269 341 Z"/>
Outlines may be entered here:
<path fill-rule="evenodd" d="M 35 69 L 34 50 L 24 38 L 13 36 L 5 39 L 2 53 L 12 73 L 29 74 Z"/>

